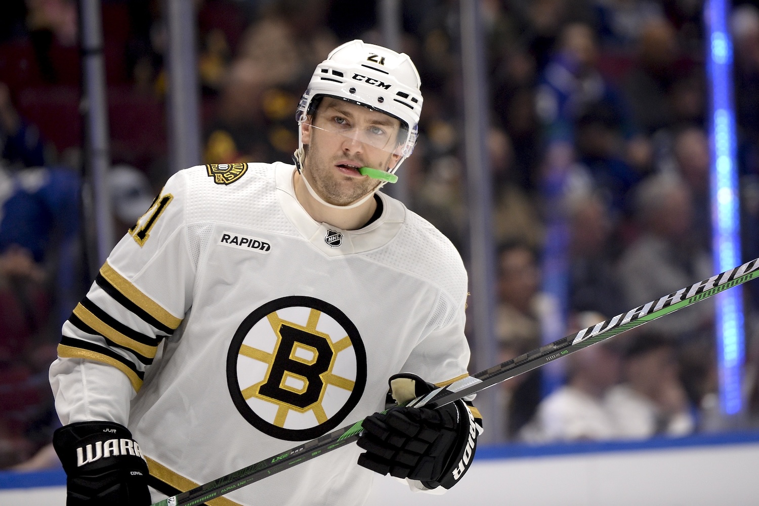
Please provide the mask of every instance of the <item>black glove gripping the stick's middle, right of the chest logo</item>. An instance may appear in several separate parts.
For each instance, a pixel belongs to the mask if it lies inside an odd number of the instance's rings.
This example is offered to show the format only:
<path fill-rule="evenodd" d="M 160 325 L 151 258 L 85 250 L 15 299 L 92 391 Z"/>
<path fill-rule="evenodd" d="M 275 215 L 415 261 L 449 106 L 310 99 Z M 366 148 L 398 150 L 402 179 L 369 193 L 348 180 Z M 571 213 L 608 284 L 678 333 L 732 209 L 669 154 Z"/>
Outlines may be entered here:
<path fill-rule="evenodd" d="M 405 402 L 433 391 L 435 385 L 413 374 L 390 379 L 395 401 Z M 465 401 L 430 409 L 392 407 L 364 419 L 358 446 L 358 465 L 380 474 L 416 479 L 427 489 L 450 489 L 466 470 L 477 448 L 481 420 L 475 420 Z"/>

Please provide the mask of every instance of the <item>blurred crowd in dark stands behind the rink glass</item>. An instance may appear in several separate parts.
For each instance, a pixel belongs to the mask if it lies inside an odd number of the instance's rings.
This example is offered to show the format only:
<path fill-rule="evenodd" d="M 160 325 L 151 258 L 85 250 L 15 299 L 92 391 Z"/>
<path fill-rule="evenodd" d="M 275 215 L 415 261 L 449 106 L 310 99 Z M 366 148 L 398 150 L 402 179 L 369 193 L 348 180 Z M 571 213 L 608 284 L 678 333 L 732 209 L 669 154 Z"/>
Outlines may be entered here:
<path fill-rule="evenodd" d="M 317 63 L 383 43 L 379 2 L 195 0 L 203 162 L 288 162 Z M 406 205 L 468 257 L 458 2 L 399 2 L 398 49 L 424 110 Z M 47 385 L 61 322 L 90 282 L 74 0 L 0 4 L 0 467 L 28 462 L 57 419 Z M 480 0 L 487 49 L 496 337 L 502 360 L 708 278 L 710 148 L 701 2 Z M 168 177 L 162 2 L 103 0 L 117 235 Z M 735 2 L 742 257 L 759 256 L 759 9 Z M 544 266 L 556 240 L 567 286 Z M 555 250 L 555 248 L 554 248 Z M 759 286 L 745 288 L 743 426 L 759 426 Z M 724 429 L 709 301 L 502 385 L 512 441 L 648 438 Z M 559 336 L 560 337 L 560 336 Z M 476 345 L 476 343 L 473 343 Z M 38 454 L 33 462 L 45 462 Z M 39 464 L 44 465 L 44 464 Z"/>

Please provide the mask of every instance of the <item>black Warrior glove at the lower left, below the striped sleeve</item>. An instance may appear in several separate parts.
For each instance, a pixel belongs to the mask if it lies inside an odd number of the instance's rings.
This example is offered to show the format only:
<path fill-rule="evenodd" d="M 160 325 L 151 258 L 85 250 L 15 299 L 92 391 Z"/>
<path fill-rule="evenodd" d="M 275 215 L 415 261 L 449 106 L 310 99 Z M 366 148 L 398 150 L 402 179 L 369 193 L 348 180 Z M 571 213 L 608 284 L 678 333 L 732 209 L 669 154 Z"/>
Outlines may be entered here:
<path fill-rule="evenodd" d="M 150 506 L 140 445 L 112 422 L 71 423 L 52 436 L 66 471 L 67 506 Z"/>

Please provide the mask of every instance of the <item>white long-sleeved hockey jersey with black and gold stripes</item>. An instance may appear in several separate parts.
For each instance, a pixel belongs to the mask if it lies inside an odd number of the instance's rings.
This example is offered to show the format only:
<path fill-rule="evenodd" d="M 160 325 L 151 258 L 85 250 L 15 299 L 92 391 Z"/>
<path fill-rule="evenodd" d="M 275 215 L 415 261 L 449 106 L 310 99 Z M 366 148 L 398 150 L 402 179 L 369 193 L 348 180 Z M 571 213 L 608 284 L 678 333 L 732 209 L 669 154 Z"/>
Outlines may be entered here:
<path fill-rule="evenodd" d="M 466 374 L 467 278 L 449 240 L 381 193 L 361 230 L 314 222 L 293 171 L 168 180 L 63 327 L 50 368 L 62 423 L 128 426 L 151 476 L 184 491 L 383 409 L 395 373 Z M 374 473 L 360 452 L 209 504 L 362 504 Z"/>

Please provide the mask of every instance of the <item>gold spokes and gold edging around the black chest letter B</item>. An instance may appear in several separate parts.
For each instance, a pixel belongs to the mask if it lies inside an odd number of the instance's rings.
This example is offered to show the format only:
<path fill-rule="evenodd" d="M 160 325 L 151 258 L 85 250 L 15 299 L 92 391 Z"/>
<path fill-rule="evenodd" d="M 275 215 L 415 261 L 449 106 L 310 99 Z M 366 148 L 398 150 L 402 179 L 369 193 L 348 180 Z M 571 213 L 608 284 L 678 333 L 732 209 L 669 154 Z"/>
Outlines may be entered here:
<path fill-rule="evenodd" d="M 272 327 L 272 331 L 274 331 L 274 334 L 277 336 L 277 343 L 274 347 L 274 350 L 272 353 L 268 353 L 263 350 L 258 350 L 257 348 L 247 346 L 246 344 L 241 345 L 239 354 L 243 355 L 244 357 L 249 357 L 254 360 L 259 360 L 260 362 L 266 363 L 269 367 L 266 370 L 266 376 L 257 383 L 254 383 L 254 385 L 250 385 L 247 388 L 243 388 L 241 390 L 241 394 L 243 395 L 243 398 L 245 400 L 250 398 L 259 398 L 263 401 L 277 404 L 277 413 L 274 417 L 273 425 L 278 427 L 285 426 L 285 419 L 287 418 L 289 410 L 297 411 L 298 413 L 307 413 L 308 411 L 313 411 L 313 415 L 316 416 L 317 421 L 319 423 L 324 423 L 327 420 L 329 420 L 329 417 L 326 415 L 326 412 L 324 411 L 324 408 L 322 407 L 322 401 L 324 400 L 324 394 L 326 393 L 326 386 L 327 385 L 333 385 L 338 388 L 342 388 L 344 390 L 353 391 L 353 388 L 356 385 L 356 382 L 354 382 L 351 379 L 343 378 L 342 376 L 337 376 L 332 373 L 332 368 L 335 366 L 335 360 L 337 360 L 338 354 L 345 350 L 348 347 L 353 346 L 353 343 L 351 342 L 351 338 L 349 338 L 347 335 L 344 338 L 340 338 L 337 341 L 332 341 L 332 337 L 330 335 L 325 334 L 324 332 L 317 331 L 317 325 L 319 324 L 319 319 L 322 316 L 322 312 L 320 310 L 311 308 L 310 313 L 308 315 L 308 321 L 306 322 L 306 326 L 298 325 L 297 323 L 288 322 L 283 319 L 279 318 L 279 315 L 276 313 L 276 311 L 269 313 L 266 315 L 266 319 L 269 321 L 269 325 Z M 313 335 L 317 335 L 320 338 L 323 338 L 327 344 L 329 344 L 329 347 L 332 349 L 332 360 L 330 360 L 329 363 L 329 369 L 326 370 L 326 372 L 323 372 L 323 374 L 320 375 L 320 378 L 324 382 L 324 387 L 322 388 L 322 391 L 319 395 L 319 398 L 317 401 L 313 402 L 313 404 L 310 404 L 306 408 L 301 408 L 298 406 L 294 406 L 292 404 L 289 404 L 287 402 L 279 401 L 279 399 L 269 398 L 265 395 L 259 394 L 259 388 L 263 385 L 265 385 L 267 382 L 269 382 L 269 375 L 272 372 L 272 365 L 274 363 L 274 359 L 276 355 L 279 353 L 279 344 L 282 342 L 282 336 L 279 334 L 280 328 L 282 328 L 282 325 L 286 323 L 287 325 L 298 328 L 304 332 L 308 332 Z M 304 363 L 306 365 L 310 365 L 313 363 L 316 363 L 317 361 L 317 350 L 316 348 L 313 348 L 307 344 L 304 343 L 296 343 L 296 345 L 293 347 L 293 350 L 290 350 L 290 359 L 291 360 L 297 360 L 298 362 Z M 303 350 L 311 351 L 313 352 L 313 358 L 312 360 L 306 360 L 303 357 L 298 357 L 295 355 L 295 349 L 301 348 Z M 285 379 L 290 376 L 292 378 L 296 378 L 302 382 L 304 382 L 303 388 L 294 388 L 291 385 L 285 385 Z M 308 380 L 300 375 L 295 375 L 291 372 L 288 372 L 285 374 L 285 376 L 282 378 L 281 385 L 279 385 L 279 388 L 283 388 L 285 390 L 293 391 L 295 393 L 302 393 L 306 391 L 308 386 Z"/>

